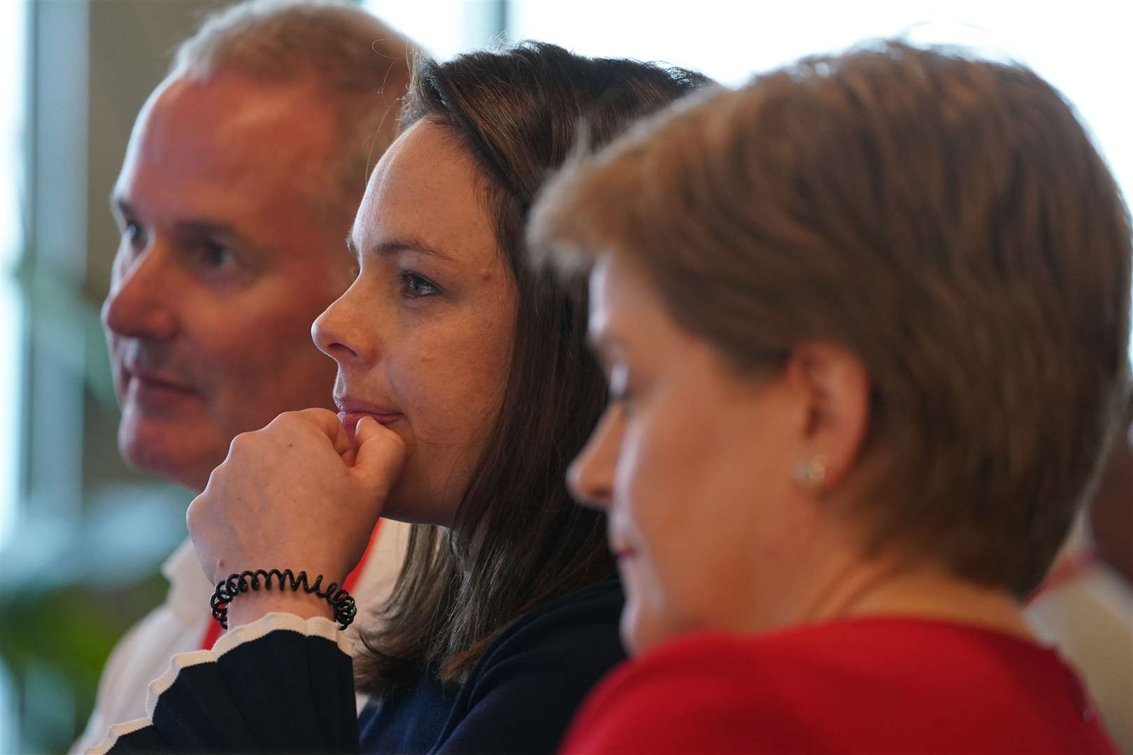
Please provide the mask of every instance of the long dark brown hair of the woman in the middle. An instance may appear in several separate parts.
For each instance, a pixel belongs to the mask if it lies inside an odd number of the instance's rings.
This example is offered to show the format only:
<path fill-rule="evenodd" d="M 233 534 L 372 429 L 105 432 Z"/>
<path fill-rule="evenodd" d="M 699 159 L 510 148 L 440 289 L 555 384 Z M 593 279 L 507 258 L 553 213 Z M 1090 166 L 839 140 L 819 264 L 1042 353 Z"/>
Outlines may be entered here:
<path fill-rule="evenodd" d="M 402 128 L 441 123 L 475 158 L 519 302 L 500 417 L 453 526 L 412 527 L 397 586 L 363 637 L 366 692 L 392 694 L 426 669 L 462 683 L 511 621 L 613 576 L 603 515 L 576 506 L 565 487 L 606 401 L 585 345 L 586 300 L 526 265 L 523 228 L 539 186 L 583 130 L 591 145 L 607 141 L 705 80 L 543 43 L 418 62 Z"/>

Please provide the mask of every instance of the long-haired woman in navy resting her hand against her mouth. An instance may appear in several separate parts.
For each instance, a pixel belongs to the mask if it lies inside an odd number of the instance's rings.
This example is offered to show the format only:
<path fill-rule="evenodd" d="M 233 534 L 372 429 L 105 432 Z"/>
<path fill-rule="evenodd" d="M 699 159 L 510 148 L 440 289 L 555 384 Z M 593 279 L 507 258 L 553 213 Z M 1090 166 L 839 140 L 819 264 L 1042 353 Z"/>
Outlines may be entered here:
<path fill-rule="evenodd" d="M 233 440 L 188 515 L 231 630 L 176 657 L 150 720 L 102 749 L 554 748 L 623 657 L 622 598 L 605 517 L 564 479 L 605 404 L 585 306 L 525 265 L 523 225 L 583 125 L 606 141 L 704 80 L 536 43 L 420 61 L 350 237 L 358 277 L 313 328 L 340 414 Z M 381 704 L 359 739 L 330 620 L 353 607 L 327 585 L 378 515 L 417 526 L 364 634 L 358 684 Z M 298 590 L 300 570 L 326 600 Z"/>

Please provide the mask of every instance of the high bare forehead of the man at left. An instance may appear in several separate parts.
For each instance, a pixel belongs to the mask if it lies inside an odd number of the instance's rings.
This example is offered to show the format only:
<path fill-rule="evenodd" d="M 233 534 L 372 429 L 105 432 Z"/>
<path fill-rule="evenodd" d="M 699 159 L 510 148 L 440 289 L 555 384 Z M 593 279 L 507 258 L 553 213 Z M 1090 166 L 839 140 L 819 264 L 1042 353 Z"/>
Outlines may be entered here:
<path fill-rule="evenodd" d="M 138 115 L 114 195 L 154 222 L 271 222 L 284 206 L 310 204 L 335 135 L 331 109 L 307 84 L 169 79 Z"/>

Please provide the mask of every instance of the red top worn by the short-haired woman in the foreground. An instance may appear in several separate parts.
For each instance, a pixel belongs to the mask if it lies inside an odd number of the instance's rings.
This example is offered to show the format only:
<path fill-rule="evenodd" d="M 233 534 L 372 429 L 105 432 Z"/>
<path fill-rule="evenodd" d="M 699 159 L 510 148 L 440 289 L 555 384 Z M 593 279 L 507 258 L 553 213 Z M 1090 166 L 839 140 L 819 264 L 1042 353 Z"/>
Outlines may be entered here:
<path fill-rule="evenodd" d="M 847 619 L 698 634 L 611 674 L 563 753 L 1117 753 L 1040 645 L 961 624 Z"/>

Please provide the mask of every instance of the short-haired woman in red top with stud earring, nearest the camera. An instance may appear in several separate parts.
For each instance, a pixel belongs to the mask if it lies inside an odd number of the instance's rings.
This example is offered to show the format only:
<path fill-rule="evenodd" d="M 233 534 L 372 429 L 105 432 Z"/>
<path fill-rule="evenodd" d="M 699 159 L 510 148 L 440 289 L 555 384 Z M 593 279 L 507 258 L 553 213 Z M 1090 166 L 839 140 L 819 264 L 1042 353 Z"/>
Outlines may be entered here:
<path fill-rule="evenodd" d="M 566 752 L 1113 752 L 1020 614 L 1130 394 L 1128 214 L 1057 92 L 804 59 L 581 160 L 531 239 L 589 269 L 571 484 L 638 657 Z"/>

